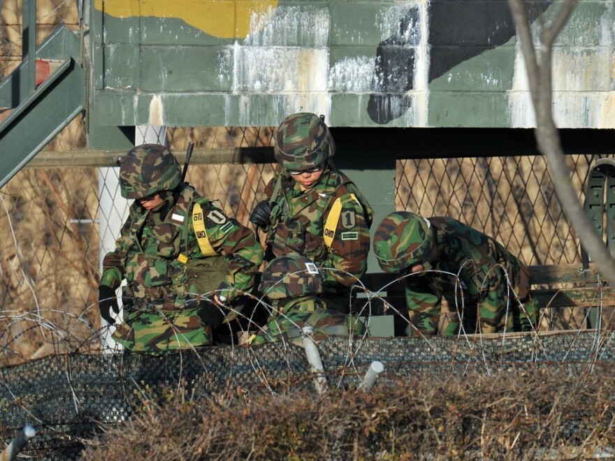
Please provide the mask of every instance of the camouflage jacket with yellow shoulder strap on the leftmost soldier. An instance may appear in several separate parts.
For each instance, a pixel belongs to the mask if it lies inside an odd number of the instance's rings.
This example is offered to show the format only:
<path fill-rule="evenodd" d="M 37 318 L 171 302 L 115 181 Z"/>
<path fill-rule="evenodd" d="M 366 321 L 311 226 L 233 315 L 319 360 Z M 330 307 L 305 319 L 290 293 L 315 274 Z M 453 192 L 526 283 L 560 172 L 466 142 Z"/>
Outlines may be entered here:
<path fill-rule="evenodd" d="M 161 309 L 216 289 L 229 300 L 249 291 L 263 259 L 254 233 L 190 186 L 178 191 L 152 212 L 138 201 L 131 205 L 115 251 L 103 259 L 101 285 L 117 288 L 125 278 L 128 295 Z"/>

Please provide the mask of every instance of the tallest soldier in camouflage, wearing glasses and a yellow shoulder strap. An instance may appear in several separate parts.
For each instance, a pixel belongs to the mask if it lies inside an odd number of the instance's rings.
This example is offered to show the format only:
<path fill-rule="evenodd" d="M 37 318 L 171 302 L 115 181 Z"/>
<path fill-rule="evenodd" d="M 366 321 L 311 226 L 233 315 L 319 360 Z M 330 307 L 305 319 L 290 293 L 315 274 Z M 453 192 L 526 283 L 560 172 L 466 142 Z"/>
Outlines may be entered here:
<path fill-rule="evenodd" d="M 307 256 L 321 270 L 323 298 L 349 312 L 350 287 L 367 269 L 373 211 L 333 166 L 334 154 L 322 117 L 302 112 L 284 119 L 275 135 L 279 166 L 250 221 L 267 233 L 266 261 Z"/>

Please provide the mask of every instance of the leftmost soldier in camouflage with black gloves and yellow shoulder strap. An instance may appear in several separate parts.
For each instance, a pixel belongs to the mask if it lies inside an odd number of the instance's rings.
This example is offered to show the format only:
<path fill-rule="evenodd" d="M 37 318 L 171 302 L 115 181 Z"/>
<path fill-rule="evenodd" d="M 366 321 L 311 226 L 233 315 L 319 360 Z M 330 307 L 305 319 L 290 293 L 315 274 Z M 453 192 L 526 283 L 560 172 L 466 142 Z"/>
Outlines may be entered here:
<path fill-rule="evenodd" d="M 252 289 L 263 259 L 254 233 L 181 177 L 161 145 L 134 147 L 120 166 L 122 196 L 135 200 L 103 260 L 99 307 L 115 323 L 110 311 L 119 312 L 115 291 L 126 279 L 124 323 L 113 339 L 130 351 L 211 344 L 212 328 Z"/>

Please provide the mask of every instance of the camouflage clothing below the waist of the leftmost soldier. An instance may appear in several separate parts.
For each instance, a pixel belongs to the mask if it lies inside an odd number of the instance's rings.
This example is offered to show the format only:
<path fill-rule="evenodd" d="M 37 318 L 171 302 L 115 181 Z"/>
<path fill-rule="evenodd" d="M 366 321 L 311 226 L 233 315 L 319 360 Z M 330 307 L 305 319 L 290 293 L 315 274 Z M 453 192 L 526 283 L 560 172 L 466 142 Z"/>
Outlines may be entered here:
<path fill-rule="evenodd" d="M 164 353 L 212 344 L 211 328 L 201 323 L 198 309 L 131 309 L 113 332 L 115 342 L 135 352 Z"/>

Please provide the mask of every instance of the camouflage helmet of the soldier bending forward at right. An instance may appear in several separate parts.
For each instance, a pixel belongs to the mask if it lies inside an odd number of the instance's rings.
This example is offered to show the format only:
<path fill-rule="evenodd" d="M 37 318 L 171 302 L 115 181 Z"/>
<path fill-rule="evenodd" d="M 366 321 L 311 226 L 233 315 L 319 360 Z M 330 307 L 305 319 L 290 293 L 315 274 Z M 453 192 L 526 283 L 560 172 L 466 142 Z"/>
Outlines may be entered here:
<path fill-rule="evenodd" d="M 374 253 L 384 272 L 400 272 L 426 261 L 433 230 L 428 219 L 411 212 L 388 214 L 376 229 Z"/>

